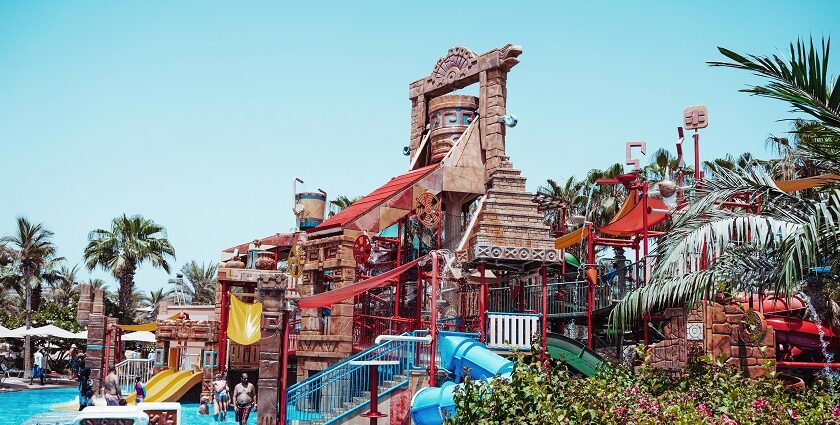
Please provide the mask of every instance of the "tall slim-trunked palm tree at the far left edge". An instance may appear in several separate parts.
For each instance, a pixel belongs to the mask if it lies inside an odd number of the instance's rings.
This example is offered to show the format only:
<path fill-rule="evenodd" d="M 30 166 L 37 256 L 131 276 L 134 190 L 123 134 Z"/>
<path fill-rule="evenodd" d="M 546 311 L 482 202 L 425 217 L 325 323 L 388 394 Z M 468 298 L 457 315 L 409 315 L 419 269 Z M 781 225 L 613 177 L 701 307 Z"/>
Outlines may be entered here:
<path fill-rule="evenodd" d="M 41 268 L 47 261 L 55 257 L 55 245 L 51 241 L 52 236 L 53 233 L 45 229 L 41 223 L 32 224 L 25 217 L 18 217 L 16 233 L 0 239 L 0 243 L 12 245 L 17 251 L 21 286 L 24 288 L 26 299 L 26 329 L 32 327 L 32 309 L 37 309 L 40 305 L 41 281 L 39 275 Z M 24 362 L 27 371 L 32 370 L 30 351 L 31 339 L 27 335 L 24 341 Z"/>

